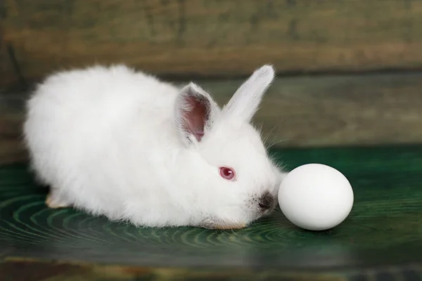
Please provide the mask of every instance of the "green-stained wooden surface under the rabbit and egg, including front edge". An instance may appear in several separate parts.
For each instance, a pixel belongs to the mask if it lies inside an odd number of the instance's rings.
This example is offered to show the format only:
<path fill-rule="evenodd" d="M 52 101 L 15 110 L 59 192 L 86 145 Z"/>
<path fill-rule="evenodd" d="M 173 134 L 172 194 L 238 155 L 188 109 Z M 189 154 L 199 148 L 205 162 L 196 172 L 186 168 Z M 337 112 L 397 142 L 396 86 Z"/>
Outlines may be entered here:
<path fill-rule="evenodd" d="M 296 228 L 281 211 L 236 231 L 134 228 L 46 209 L 47 190 L 26 164 L 1 166 L 0 279 L 422 278 L 422 146 L 272 153 L 288 169 L 319 162 L 343 172 L 354 188 L 350 216 L 323 232 Z"/>

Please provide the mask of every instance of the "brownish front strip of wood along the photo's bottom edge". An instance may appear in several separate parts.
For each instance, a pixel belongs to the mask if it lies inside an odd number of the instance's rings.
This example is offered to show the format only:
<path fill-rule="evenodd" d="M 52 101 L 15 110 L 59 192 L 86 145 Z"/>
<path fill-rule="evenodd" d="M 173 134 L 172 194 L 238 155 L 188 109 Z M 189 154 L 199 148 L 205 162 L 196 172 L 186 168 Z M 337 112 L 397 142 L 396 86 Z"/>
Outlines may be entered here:
<path fill-rule="evenodd" d="M 113 255 L 110 255 L 113 256 Z M 383 270 L 284 270 L 281 268 L 146 268 L 143 266 L 113 266 L 96 263 L 39 261 L 34 259 L 7 259 L 0 263 L 1 272 L 8 280 L 25 281 L 59 281 L 59 280 L 91 280 L 91 281 L 211 281 L 211 280 L 289 280 L 289 281 L 354 281 L 373 280 L 421 280 L 422 266 L 388 266 Z M 396 278 L 396 279 L 395 279 Z"/>

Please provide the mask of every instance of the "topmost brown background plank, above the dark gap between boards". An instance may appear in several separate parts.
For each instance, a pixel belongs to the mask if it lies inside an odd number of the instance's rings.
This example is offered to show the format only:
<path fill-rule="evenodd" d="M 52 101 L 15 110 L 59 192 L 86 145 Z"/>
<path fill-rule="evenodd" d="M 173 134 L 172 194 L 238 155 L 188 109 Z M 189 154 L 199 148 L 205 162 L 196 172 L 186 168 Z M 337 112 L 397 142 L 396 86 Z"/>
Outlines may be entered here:
<path fill-rule="evenodd" d="M 91 63 L 238 76 L 422 67 L 420 0 L 4 0 L 24 79 Z M 0 4 L 1 5 L 1 4 Z M 15 82 L 12 65 L 0 84 Z"/>

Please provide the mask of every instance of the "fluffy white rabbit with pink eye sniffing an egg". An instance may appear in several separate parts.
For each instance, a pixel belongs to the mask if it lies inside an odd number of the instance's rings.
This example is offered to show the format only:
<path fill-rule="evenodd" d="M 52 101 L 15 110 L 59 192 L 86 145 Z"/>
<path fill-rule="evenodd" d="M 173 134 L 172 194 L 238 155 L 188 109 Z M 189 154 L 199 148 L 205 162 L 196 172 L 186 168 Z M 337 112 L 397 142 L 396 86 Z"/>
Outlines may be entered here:
<path fill-rule="evenodd" d="M 283 170 L 250 124 L 274 70 L 222 109 L 124 65 L 52 74 L 27 102 L 25 144 L 46 204 L 136 226 L 243 228 L 271 214 Z"/>

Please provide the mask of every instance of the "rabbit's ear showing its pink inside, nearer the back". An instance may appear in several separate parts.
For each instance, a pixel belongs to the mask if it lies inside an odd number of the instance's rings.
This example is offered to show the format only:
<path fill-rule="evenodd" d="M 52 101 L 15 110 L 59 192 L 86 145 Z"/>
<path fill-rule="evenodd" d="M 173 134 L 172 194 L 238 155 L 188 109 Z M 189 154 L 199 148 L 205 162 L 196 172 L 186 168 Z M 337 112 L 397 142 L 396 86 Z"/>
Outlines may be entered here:
<path fill-rule="evenodd" d="M 218 112 L 217 103 L 200 86 L 193 83 L 184 86 L 174 109 L 176 126 L 183 141 L 187 145 L 193 142 L 193 138 L 201 141 Z"/>

